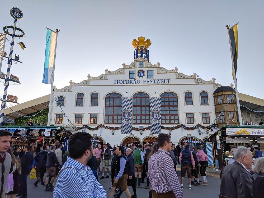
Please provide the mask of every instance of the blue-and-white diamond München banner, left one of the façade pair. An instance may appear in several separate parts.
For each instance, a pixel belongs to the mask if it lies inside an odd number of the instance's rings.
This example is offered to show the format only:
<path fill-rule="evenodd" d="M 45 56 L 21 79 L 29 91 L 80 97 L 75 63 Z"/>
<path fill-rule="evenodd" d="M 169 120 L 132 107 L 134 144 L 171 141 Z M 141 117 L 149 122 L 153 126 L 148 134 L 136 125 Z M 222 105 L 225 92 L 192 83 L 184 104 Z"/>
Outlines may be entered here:
<path fill-rule="evenodd" d="M 132 134 L 132 98 L 122 98 L 121 134 Z"/>

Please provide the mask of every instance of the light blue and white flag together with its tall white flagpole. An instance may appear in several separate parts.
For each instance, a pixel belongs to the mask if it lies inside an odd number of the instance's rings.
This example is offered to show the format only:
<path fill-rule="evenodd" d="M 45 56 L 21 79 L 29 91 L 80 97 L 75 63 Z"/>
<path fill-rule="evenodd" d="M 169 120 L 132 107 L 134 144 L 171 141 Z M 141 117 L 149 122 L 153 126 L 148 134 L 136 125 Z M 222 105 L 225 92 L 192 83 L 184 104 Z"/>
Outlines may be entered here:
<path fill-rule="evenodd" d="M 46 36 L 46 50 L 45 50 L 45 61 L 44 61 L 44 73 L 42 83 L 51 84 L 50 91 L 50 105 L 48 114 L 48 125 L 51 121 L 51 111 L 53 107 L 53 81 L 54 81 L 54 71 L 55 71 L 55 59 L 56 59 L 56 48 L 57 48 L 57 36 L 59 29 L 56 32 L 47 28 Z"/>

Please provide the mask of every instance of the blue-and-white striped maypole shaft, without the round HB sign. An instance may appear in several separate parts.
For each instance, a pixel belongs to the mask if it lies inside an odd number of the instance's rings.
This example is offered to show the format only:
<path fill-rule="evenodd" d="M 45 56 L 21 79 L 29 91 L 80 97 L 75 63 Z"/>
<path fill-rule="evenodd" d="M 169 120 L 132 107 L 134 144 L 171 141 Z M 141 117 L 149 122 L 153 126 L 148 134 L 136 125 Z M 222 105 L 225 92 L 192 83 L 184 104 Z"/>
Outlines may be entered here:
<path fill-rule="evenodd" d="M 13 29 L 12 40 L 11 40 L 10 53 L 9 53 L 9 57 L 8 57 L 6 80 L 5 80 L 5 83 L 4 83 L 4 96 L 3 96 L 2 105 L 1 105 L 0 126 L 3 125 L 4 109 L 6 108 L 6 96 L 7 96 L 7 88 L 8 88 L 8 85 L 9 85 L 10 68 L 11 68 L 11 64 L 12 64 L 12 55 L 13 55 L 13 48 L 14 48 L 14 42 L 15 42 L 15 33 L 16 33 L 16 30 L 15 30 L 16 23 L 17 23 L 17 19 L 15 18 L 14 29 Z"/>

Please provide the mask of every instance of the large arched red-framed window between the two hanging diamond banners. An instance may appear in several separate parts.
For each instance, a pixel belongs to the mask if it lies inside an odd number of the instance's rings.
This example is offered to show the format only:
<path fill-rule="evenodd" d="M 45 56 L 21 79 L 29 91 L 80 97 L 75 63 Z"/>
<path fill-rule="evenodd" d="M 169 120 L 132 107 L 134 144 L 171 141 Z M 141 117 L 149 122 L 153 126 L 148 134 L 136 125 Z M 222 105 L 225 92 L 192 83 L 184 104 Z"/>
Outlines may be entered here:
<path fill-rule="evenodd" d="M 139 92 L 133 95 L 133 124 L 149 124 L 149 95 Z"/>

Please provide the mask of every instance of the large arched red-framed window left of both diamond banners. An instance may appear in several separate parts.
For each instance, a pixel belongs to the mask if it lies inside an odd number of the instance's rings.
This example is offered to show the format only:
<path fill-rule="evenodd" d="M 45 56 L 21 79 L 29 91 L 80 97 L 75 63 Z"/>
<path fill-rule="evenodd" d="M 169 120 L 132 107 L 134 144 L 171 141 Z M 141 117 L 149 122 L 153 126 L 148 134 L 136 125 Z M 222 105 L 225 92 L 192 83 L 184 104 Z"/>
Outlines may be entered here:
<path fill-rule="evenodd" d="M 122 96 L 119 93 L 109 93 L 105 97 L 105 124 L 121 124 Z"/>

